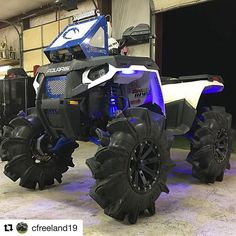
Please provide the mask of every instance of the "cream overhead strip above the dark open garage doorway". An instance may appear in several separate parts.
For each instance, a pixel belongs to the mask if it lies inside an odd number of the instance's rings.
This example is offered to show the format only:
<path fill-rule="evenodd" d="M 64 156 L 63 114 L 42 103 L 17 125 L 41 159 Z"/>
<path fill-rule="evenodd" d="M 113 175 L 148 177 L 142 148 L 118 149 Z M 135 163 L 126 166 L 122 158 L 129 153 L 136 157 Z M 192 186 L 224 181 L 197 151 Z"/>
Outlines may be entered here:
<path fill-rule="evenodd" d="M 209 0 L 151 0 L 152 10 L 154 12 L 162 12 L 171 10 L 178 7 L 184 7 L 191 4 L 197 4 L 202 2 L 207 2 Z"/>

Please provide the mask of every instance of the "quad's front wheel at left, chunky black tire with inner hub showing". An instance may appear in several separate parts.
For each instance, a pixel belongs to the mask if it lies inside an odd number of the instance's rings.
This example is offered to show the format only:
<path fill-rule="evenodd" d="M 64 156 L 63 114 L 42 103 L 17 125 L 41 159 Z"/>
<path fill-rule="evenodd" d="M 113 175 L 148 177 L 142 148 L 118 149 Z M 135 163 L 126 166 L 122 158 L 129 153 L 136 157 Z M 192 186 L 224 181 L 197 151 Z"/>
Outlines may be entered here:
<path fill-rule="evenodd" d="M 38 185 L 42 190 L 54 184 L 54 179 L 61 183 L 62 173 L 74 166 L 71 155 L 78 145 L 62 139 L 52 141 L 36 114 L 17 117 L 10 125 L 10 137 L 1 144 L 1 152 L 8 160 L 4 174 L 13 181 L 20 178 L 20 185 L 30 189 Z"/>

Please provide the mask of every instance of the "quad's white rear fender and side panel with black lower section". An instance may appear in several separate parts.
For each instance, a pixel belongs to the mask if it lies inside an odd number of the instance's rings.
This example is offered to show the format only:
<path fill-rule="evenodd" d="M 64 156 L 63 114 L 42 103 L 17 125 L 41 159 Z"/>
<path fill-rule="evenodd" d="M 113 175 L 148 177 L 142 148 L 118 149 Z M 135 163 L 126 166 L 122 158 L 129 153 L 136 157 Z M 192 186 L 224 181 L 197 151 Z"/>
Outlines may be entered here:
<path fill-rule="evenodd" d="M 207 80 L 163 85 L 167 129 L 173 135 L 186 134 L 192 127 L 201 95 L 223 89 L 222 83 Z"/>

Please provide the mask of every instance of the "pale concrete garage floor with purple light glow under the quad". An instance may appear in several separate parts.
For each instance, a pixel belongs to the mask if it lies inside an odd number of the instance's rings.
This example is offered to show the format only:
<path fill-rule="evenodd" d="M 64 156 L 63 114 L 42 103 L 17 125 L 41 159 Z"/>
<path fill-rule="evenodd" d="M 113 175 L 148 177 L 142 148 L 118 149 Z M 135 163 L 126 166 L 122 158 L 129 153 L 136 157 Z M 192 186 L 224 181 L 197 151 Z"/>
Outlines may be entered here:
<path fill-rule="evenodd" d="M 94 180 L 85 165 L 96 146 L 81 143 L 75 152 L 76 167 L 64 174 L 63 183 L 44 191 L 30 191 L 0 174 L 0 218 L 83 219 L 84 235 L 236 235 L 236 155 L 224 182 L 200 184 L 191 177 L 184 160 L 187 151 L 175 149 L 168 187 L 156 201 L 156 215 L 127 225 L 103 214 L 88 196 Z M 0 163 L 2 172 L 5 163 Z"/>

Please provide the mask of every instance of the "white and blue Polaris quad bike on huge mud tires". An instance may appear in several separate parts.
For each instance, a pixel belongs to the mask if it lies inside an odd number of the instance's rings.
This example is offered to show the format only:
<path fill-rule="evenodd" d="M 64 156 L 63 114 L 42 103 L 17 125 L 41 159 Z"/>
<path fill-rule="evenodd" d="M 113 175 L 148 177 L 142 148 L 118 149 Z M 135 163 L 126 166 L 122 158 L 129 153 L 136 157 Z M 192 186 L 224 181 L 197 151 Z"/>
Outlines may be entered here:
<path fill-rule="evenodd" d="M 188 134 L 193 176 L 222 181 L 230 168 L 232 117 L 223 107 L 198 106 L 202 96 L 223 90 L 222 78 L 161 79 L 150 58 L 109 55 L 104 16 L 80 20 L 45 50 L 51 64 L 38 69 L 36 108 L 10 122 L 14 129 L 2 143 L 9 159 L 4 173 L 43 189 L 73 166 L 76 140 L 96 139 L 98 151 L 86 161 L 96 180 L 90 196 L 105 214 L 135 223 L 145 211 L 153 215 L 156 199 L 169 192 L 172 140 Z M 146 41 L 150 31 L 142 24 L 124 35 L 123 46 Z"/>

